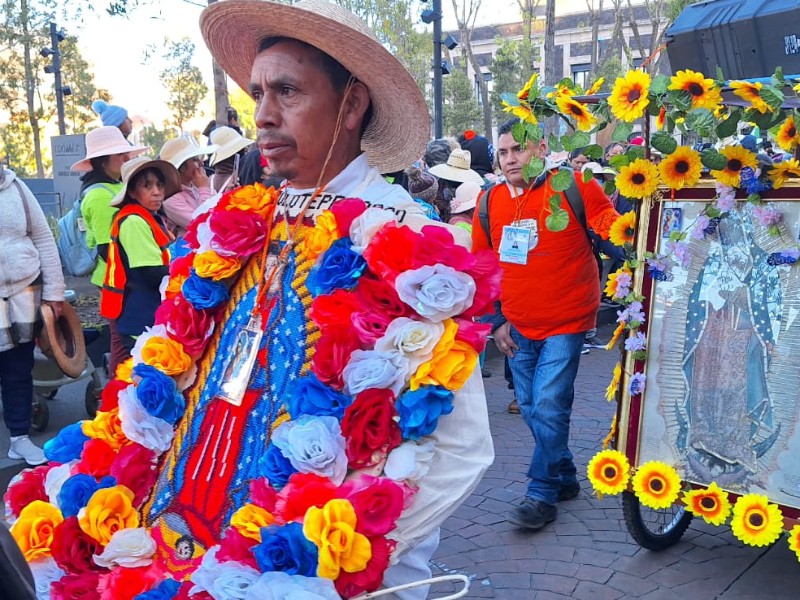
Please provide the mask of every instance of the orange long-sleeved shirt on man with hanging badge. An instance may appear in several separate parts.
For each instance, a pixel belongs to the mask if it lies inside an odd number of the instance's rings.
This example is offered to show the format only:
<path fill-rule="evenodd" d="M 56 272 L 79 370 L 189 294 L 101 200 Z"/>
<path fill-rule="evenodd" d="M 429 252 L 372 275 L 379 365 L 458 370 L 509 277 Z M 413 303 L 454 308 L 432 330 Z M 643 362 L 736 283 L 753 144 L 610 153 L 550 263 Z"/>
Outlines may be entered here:
<path fill-rule="evenodd" d="M 586 209 L 586 220 L 603 239 L 608 238 L 611 224 L 619 216 L 603 189 L 595 181 L 584 183 L 575 175 Z M 486 192 L 485 192 L 486 193 Z M 553 335 L 580 333 L 595 326 L 600 303 L 600 281 L 597 261 L 591 244 L 572 209 L 562 194 L 561 207 L 569 213 L 569 224 L 563 231 L 549 231 L 545 219 L 550 214 L 548 200 L 554 194 L 548 177 L 535 189 L 515 188 L 509 184 L 492 189 L 489 201 L 489 233 L 491 247 L 499 255 L 503 227 L 515 218 L 521 205 L 520 220 L 535 219 L 539 241 L 528 252 L 525 265 L 501 262 L 503 279 L 500 302 L 503 315 L 525 337 L 542 340 Z M 472 248 L 489 248 L 483 227 L 475 211 L 472 226 Z"/>

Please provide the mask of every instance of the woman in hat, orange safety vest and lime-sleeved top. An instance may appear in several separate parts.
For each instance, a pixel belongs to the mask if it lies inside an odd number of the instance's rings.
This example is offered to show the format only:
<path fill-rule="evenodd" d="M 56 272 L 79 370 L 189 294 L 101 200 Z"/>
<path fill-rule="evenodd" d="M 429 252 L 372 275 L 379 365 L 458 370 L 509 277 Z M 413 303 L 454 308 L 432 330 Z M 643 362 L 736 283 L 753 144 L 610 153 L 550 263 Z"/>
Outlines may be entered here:
<path fill-rule="evenodd" d="M 169 244 L 175 239 L 159 214 L 164 199 L 180 190 L 178 170 L 164 160 L 137 156 L 122 166 L 122 189 L 111 226 L 108 269 L 100 292 L 100 314 L 114 319 L 130 353 L 161 304 L 159 286 L 169 273 Z"/>

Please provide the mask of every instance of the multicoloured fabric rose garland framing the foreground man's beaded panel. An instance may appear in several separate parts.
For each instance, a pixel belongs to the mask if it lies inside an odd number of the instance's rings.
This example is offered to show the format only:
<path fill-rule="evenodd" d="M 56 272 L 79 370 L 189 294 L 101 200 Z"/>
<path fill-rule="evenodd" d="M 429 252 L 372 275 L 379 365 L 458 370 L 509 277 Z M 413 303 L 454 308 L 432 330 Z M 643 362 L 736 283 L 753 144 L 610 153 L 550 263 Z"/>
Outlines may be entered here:
<path fill-rule="evenodd" d="M 266 477 L 217 546 L 175 581 L 143 527 L 157 460 L 185 410 L 183 391 L 228 288 L 271 235 L 277 192 L 226 193 L 188 228 L 190 254 L 170 265 L 156 324 L 103 391 L 91 421 L 45 445 L 49 464 L 25 470 L 5 496 L 12 535 L 52 598 L 353 597 L 377 589 L 434 443 L 472 374 L 500 270 L 437 226 L 422 233 L 393 213 L 341 200 L 298 251 L 316 260 L 307 287 L 320 329 L 309 373 L 272 424 Z M 52 586 L 52 587 L 51 587 Z M 83 594 L 83 595 L 82 595 Z"/>

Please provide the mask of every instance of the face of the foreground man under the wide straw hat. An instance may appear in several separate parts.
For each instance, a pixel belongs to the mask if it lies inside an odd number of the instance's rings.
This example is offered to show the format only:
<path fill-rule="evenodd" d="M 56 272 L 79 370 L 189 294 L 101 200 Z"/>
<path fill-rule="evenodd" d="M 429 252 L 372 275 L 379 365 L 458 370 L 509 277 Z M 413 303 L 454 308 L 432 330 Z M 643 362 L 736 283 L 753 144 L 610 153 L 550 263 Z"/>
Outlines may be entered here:
<path fill-rule="evenodd" d="M 314 59 L 310 48 L 279 42 L 256 56 L 250 76 L 258 147 L 273 174 L 298 188 L 317 184 L 342 100 Z"/>

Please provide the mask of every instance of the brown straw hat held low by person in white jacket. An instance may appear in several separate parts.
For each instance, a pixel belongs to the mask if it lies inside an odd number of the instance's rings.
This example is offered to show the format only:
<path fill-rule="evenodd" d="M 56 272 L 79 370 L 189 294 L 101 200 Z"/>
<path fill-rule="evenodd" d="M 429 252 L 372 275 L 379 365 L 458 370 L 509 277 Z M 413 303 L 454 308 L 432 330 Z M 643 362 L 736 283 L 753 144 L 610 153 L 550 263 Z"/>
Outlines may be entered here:
<path fill-rule="evenodd" d="M 62 303 L 58 319 L 48 304 L 42 304 L 39 311 L 44 321 L 44 328 L 39 334 L 39 349 L 55 359 L 66 375 L 78 377 L 86 367 L 86 344 L 78 314 L 68 302 Z"/>

